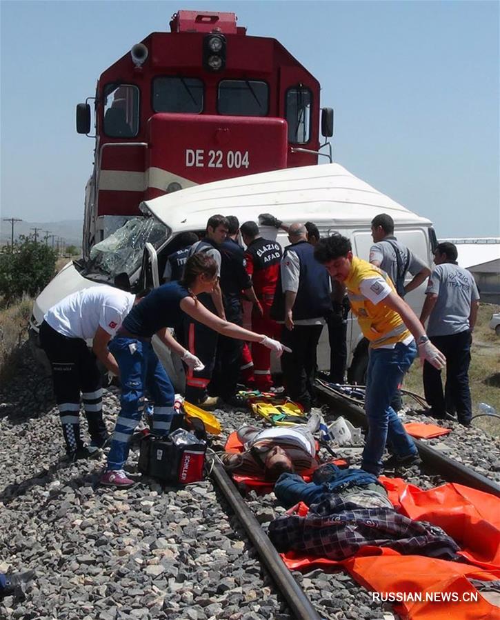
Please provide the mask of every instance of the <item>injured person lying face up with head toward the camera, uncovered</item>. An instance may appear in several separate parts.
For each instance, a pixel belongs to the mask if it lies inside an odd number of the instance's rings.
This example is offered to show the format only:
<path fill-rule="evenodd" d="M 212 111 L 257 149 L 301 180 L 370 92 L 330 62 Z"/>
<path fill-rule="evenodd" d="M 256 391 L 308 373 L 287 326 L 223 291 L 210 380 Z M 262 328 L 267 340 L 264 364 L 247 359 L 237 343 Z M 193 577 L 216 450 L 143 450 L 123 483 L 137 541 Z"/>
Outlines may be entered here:
<path fill-rule="evenodd" d="M 242 426 L 237 438 L 243 452 L 221 455 L 228 472 L 245 476 L 263 476 L 274 481 L 283 472 L 306 472 L 318 467 L 313 433 L 319 428 L 319 414 L 311 414 L 308 423 L 289 428 Z"/>

